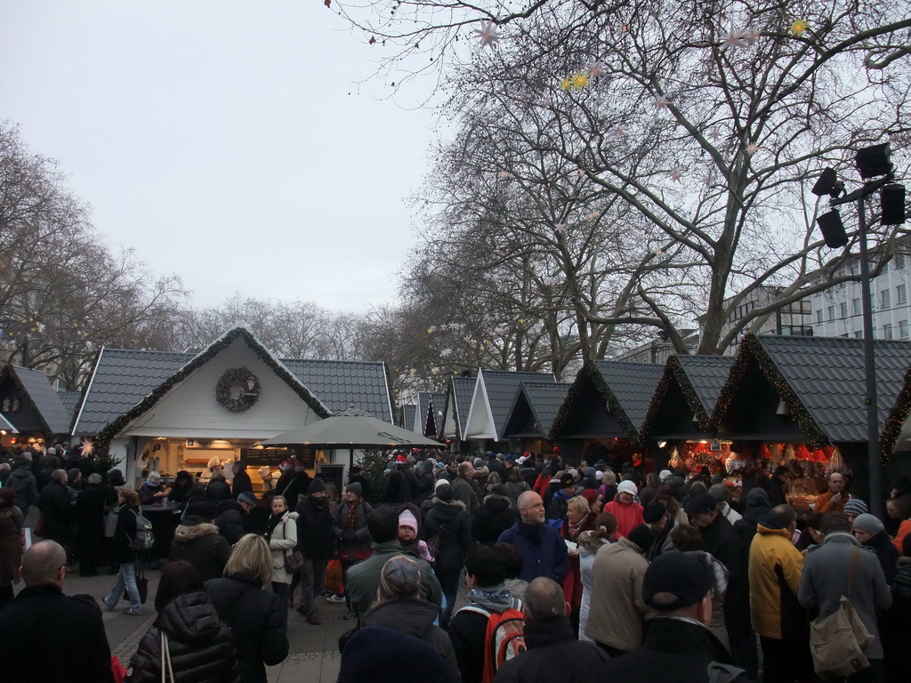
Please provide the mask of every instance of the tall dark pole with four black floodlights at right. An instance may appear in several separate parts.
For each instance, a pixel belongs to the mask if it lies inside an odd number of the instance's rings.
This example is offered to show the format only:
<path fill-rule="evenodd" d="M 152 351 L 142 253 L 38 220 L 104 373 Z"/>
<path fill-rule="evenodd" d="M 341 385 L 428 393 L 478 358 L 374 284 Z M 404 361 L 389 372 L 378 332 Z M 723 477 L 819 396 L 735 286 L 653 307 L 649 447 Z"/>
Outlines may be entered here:
<path fill-rule="evenodd" d="M 905 222 L 905 189 L 901 185 L 890 185 L 895 174 L 889 161 L 889 143 L 858 150 L 855 165 L 860 177 L 866 182 L 847 195 L 844 183 L 832 168 L 826 168 L 816 181 L 813 193 L 817 197 L 829 195 L 830 206 L 857 202 L 857 223 L 860 236 L 860 287 L 861 305 L 864 318 L 864 370 L 866 375 L 866 443 L 867 466 L 870 477 L 870 512 L 882 516 L 883 473 L 879 462 L 879 416 L 876 401 L 876 364 L 873 340 L 873 303 L 870 293 L 870 261 L 867 257 L 867 224 L 865 201 L 877 190 L 883 189 L 882 222 L 884 225 L 898 225 Z M 877 178 L 880 177 L 880 178 Z M 867 179 L 875 178 L 875 179 Z M 841 216 L 833 209 L 817 219 L 828 247 L 840 248 L 847 244 Z"/>

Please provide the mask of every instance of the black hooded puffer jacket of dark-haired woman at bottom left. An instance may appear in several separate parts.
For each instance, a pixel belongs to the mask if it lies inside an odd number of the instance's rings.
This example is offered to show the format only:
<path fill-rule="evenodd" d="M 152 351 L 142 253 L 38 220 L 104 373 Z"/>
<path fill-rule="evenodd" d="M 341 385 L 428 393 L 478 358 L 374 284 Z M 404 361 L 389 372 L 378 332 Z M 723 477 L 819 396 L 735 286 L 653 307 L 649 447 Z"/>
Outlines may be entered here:
<path fill-rule="evenodd" d="M 162 610 L 129 660 L 130 683 L 161 677 L 161 634 L 168 637 L 175 683 L 234 683 L 240 677 L 230 627 L 205 591 L 177 596 Z M 169 678 L 170 680 L 170 678 Z"/>

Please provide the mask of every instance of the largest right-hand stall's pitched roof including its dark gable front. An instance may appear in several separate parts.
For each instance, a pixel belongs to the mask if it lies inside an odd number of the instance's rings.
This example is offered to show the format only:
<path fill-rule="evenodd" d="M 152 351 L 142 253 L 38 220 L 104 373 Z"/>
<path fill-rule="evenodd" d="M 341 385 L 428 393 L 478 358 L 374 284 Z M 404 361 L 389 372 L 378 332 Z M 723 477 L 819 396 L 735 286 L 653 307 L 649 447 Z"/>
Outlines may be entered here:
<path fill-rule="evenodd" d="M 742 439 L 779 438 L 814 448 L 866 443 L 863 344 L 842 337 L 746 335 L 713 420 L 722 435 Z M 874 354 L 882 431 L 911 366 L 911 342 L 877 340 Z"/>

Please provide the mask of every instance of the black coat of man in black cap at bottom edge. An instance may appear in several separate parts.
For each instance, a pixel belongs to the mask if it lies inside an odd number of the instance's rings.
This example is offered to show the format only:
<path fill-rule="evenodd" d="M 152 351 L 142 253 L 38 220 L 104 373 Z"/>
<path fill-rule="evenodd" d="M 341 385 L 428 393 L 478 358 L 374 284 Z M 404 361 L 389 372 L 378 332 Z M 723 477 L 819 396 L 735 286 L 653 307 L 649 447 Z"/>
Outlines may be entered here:
<path fill-rule="evenodd" d="M 699 624 L 666 617 L 646 622 L 642 647 L 599 669 L 592 680 L 624 683 L 707 683 L 711 662 L 731 665 L 721 641 Z M 733 678 L 746 681 L 744 676 Z"/>

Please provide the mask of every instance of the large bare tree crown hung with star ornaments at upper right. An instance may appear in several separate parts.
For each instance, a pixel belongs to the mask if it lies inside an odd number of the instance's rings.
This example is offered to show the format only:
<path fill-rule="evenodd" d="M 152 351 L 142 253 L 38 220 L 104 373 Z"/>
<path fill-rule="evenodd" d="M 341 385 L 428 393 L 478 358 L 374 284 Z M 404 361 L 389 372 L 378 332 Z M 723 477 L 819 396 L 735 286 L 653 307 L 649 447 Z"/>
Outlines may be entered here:
<path fill-rule="evenodd" d="M 562 273 L 589 325 L 652 325 L 683 351 L 681 328 L 698 318 L 700 352 L 722 352 L 778 307 L 852 277 L 834 272 L 855 243 L 824 249 L 806 193 L 822 166 L 907 138 L 911 19 L 900 8 L 551 3 L 514 19 L 496 50 L 456 70 L 449 106 L 466 148 L 496 148 L 486 178 L 522 178 L 522 165 L 556 157 L 598 189 L 576 207 L 565 181 L 529 193 L 532 218 L 562 225 L 564 240 L 586 234 L 589 202 L 614 209 L 604 215 L 622 258 L 605 272 L 627 274 L 628 287 L 589 290 L 578 269 Z M 541 202 L 555 191 L 558 204 Z M 876 230 L 883 253 L 895 236 Z M 773 301 L 727 324 L 769 285 Z"/>

